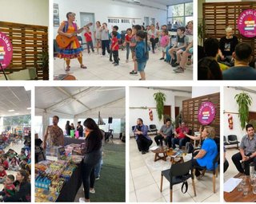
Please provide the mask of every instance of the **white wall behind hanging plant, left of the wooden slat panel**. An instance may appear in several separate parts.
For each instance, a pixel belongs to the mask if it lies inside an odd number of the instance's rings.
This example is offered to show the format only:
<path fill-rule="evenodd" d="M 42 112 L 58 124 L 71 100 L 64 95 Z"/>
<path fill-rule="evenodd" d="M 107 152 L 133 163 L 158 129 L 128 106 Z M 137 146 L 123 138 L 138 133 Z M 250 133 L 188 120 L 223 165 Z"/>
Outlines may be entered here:
<path fill-rule="evenodd" d="M 174 119 L 175 116 L 175 96 L 185 96 L 186 98 L 191 98 L 190 93 L 186 92 L 172 92 L 160 90 L 166 94 L 166 103 L 165 105 L 171 106 L 171 118 Z M 156 104 L 154 100 L 154 93 L 158 90 L 148 89 L 148 88 L 133 88 L 130 87 L 130 103 L 129 103 L 129 132 L 131 132 L 131 127 L 136 124 L 138 118 L 142 118 L 144 124 L 150 125 L 155 124 L 157 128 L 161 128 L 163 122 L 158 120 L 158 113 L 156 109 Z M 146 109 L 141 107 L 147 107 Z M 153 111 L 153 120 L 150 120 L 149 108 Z"/>

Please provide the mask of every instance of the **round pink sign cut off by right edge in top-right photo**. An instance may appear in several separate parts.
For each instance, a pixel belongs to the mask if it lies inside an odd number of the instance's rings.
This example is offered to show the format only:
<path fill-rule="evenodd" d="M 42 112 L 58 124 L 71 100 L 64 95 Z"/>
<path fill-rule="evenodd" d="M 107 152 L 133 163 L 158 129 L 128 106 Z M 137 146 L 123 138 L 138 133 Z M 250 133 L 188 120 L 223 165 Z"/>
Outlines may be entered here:
<path fill-rule="evenodd" d="M 245 10 L 240 14 L 238 29 L 244 37 L 256 36 L 256 10 Z"/>

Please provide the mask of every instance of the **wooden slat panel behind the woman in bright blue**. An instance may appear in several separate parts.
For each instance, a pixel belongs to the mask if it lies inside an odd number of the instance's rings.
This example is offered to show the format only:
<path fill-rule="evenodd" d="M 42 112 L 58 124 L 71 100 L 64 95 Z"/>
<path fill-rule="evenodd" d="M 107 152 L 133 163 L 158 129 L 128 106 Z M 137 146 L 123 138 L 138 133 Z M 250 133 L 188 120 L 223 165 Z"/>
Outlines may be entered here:
<path fill-rule="evenodd" d="M 201 106 L 202 102 L 210 101 L 215 105 L 216 116 L 214 121 L 209 124 L 215 128 L 216 135 L 220 135 L 220 94 L 214 93 L 206 96 L 200 96 L 197 98 L 192 98 L 189 100 L 182 101 L 182 115 L 183 120 L 186 122 L 187 126 L 193 131 L 199 131 L 200 123 L 198 122 L 198 108 Z"/>

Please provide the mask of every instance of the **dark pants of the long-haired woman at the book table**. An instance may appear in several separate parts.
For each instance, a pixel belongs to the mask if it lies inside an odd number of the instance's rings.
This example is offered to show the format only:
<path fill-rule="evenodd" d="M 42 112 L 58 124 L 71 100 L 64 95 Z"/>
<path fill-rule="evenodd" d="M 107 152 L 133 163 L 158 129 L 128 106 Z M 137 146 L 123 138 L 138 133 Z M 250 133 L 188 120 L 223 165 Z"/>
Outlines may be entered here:
<path fill-rule="evenodd" d="M 101 159 L 102 151 L 93 151 L 86 154 L 82 162 L 82 183 L 86 199 L 90 199 L 90 188 L 94 188 L 94 167 Z"/>

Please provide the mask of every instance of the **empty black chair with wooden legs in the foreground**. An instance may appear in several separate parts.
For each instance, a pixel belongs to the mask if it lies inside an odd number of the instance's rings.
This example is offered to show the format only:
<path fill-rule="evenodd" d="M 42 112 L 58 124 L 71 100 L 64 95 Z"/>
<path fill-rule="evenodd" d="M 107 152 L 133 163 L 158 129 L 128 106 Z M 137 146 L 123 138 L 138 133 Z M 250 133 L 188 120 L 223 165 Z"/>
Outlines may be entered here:
<path fill-rule="evenodd" d="M 162 179 L 165 177 L 170 182 L 170 202 L 173 202 L 173 186 L 192 179 L 192 186 L 194 189 L 194 196 L 197 196 L 194 186 L 194 174 L 192 168 L 192 160 L 186 163 L 174 163 L 170 169 L 161 172 L 160 192 L 162 192 Z"/>

